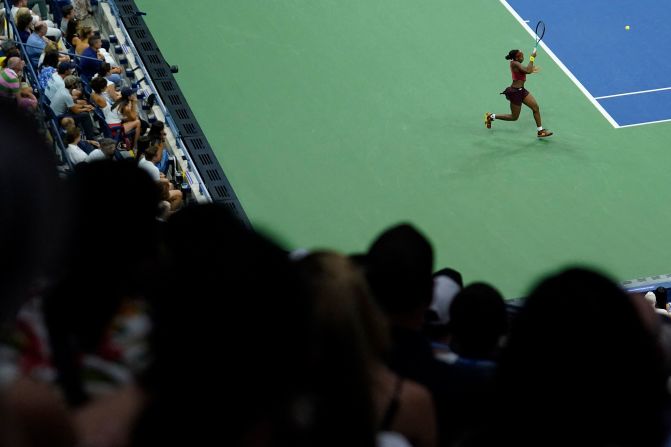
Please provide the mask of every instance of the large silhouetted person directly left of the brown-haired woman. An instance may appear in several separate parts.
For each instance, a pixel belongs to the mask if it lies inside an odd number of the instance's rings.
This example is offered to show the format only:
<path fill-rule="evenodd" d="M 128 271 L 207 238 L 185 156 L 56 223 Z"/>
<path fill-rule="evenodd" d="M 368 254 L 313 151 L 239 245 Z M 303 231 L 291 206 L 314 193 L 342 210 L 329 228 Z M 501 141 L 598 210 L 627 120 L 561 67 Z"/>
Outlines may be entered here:
<path fill-rule="evenodd" d="M 212 229 L 218 230 L 207 242 L 195 237 Z M 225 433 L 227 444 L 234 446 L 373 447 L 370 404 L 353 386 L 365 380 L 356 374 L 358 365 L 347 365 L 340 374 L 324 371 L 330 376 L 312 367 L 330 352 L 319 351 L 321 344 L 311 336 L 311 304 L 298 290 L 295 266 L 286 253 L 215 204 L 175 213 L 165 233 L 171 264 L 164 278 L 176 271 L 180 259 L 198 259 L 212 250 L 222 256 L 198 269 L 181 267 L 185 277 L 200 271 L 202 280 L 189 287 L 183 281 L 160 281 L 165 292 L 156 297 L 155 363 L 143 381 L 151 398 L 130 445 L 199 445 Z M 263 272 L 263 281 L 258 272 Z M 225 314 L 231 317 L 226 324 L 216 323 L 221 315 L 184 306 L 178 298 L 188 293 L 204 299 L 215 283 L 226 288 Z M 264 311 L 255 310 L 259 308 Z M 243 321 L 244 315 L 254 315 L 255 330 L 245 331 L 249 322 Z M 270 340 L 282 349 L 265 349 Z M 193 360 L 175 356 L 175 346 L 189 346 Z M 215 351 L 226 352 L 224 369 L 193 368 L 192 361 Z M 344 346 L 338 354 L 342 352 Z M 268 365 L 275 365 L 272 373 Z M 213 380 L 220 374 L 226 380 Z M 328 377 L 334 380 L 329 383 Z M 176 387 L 175 381 L 189 386 Z M 203 408 L 206 402 L 225 402 L 235 411 L 226 417 L 183 411 Z"/>

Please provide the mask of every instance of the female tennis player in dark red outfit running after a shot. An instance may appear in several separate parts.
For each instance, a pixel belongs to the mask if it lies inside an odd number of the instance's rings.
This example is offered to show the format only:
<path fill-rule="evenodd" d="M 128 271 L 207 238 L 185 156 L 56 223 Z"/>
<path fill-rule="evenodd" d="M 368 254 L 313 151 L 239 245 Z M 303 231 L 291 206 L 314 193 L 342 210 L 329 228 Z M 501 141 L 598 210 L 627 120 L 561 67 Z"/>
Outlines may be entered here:
<path fill-rule="evenodd" d="M 510 87 L 501 92 L 501 94 L 506 95 L 506 99 L 510 101 L 510 115 L 487 112 L 485 114 L 485 125 L 490 129 L 492 127 L 492 121 L 494 120 L 517 121 L 517 118 L 520 116 L 520 111 L 522 110 L 522 104 L 525 104 L 534 112 L 534 120 L 536 120 L 536 126 L 538 128 L 538 138 L 549 137 L 552 135 L 552 132 L 543 129 L 543 125 L 541 124 L 541 112 L 538 103 L 536 102 L 536 98 L 524 88 L 524 82 L 527 80 L 527 75 L 538 72 L 538 67 L 534 67 L 536 50 L 531 53 L 529 64 L 527 66 L 522 65 L 522 62 L 524 62 L 524 53 L 520 50 L 510 50 L 506 59 L 510 61 L 510 71 L 513 74 L 513 83 Z"/>

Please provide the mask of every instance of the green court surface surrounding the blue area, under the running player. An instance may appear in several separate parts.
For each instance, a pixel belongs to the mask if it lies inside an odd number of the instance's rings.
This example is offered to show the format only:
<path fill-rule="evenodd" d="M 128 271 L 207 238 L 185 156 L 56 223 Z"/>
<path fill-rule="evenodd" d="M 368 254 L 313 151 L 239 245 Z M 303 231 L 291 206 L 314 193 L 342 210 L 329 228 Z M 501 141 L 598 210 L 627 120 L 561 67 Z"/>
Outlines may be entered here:
<path fill-rule="evenodd" d="M 437 267 L 509 298 L 566 264 L 671 271 L 671 125 L 614 129 L 541 52 L 527 88 L 555 135 L 528 109 L 485 129 L 509 110 L 505 54 L 533 46 L 497 0 L 136 1 L 250 220 L 287 247 L 362 251 L 411 221 Z"/>

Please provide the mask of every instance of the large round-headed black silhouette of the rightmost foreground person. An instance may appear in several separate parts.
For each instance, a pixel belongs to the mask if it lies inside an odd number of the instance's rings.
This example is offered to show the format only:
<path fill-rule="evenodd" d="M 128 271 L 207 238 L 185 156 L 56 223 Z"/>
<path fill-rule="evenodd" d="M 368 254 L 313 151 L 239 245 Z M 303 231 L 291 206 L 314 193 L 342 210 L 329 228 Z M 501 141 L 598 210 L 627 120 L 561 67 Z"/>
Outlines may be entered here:
<path fill-rule="evenodd" d="M 667 375 L 648 312 L 593 271 L 541 281 L 511 328 L 485 429 L 464 445 L 664 445 Z"/>

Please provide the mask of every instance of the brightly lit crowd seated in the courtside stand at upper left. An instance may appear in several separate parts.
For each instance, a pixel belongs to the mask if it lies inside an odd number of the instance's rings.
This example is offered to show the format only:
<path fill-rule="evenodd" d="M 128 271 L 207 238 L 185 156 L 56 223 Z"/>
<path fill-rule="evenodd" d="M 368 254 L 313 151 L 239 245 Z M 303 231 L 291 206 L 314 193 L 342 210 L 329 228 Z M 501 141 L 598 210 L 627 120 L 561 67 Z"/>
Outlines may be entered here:
<path fill-rule="evenodd" d="M 108 51 L 90 0 L 11 0 L 3 12 L 0 99 L 30 112 L 69 167 L 111 152 L 115 141 L 112 158 L 135 158 L 156 177 L 169 211 L 179 208 L 163 123 L 146 112 L 153 99 L 138 98 L 138 83 Z"/>

